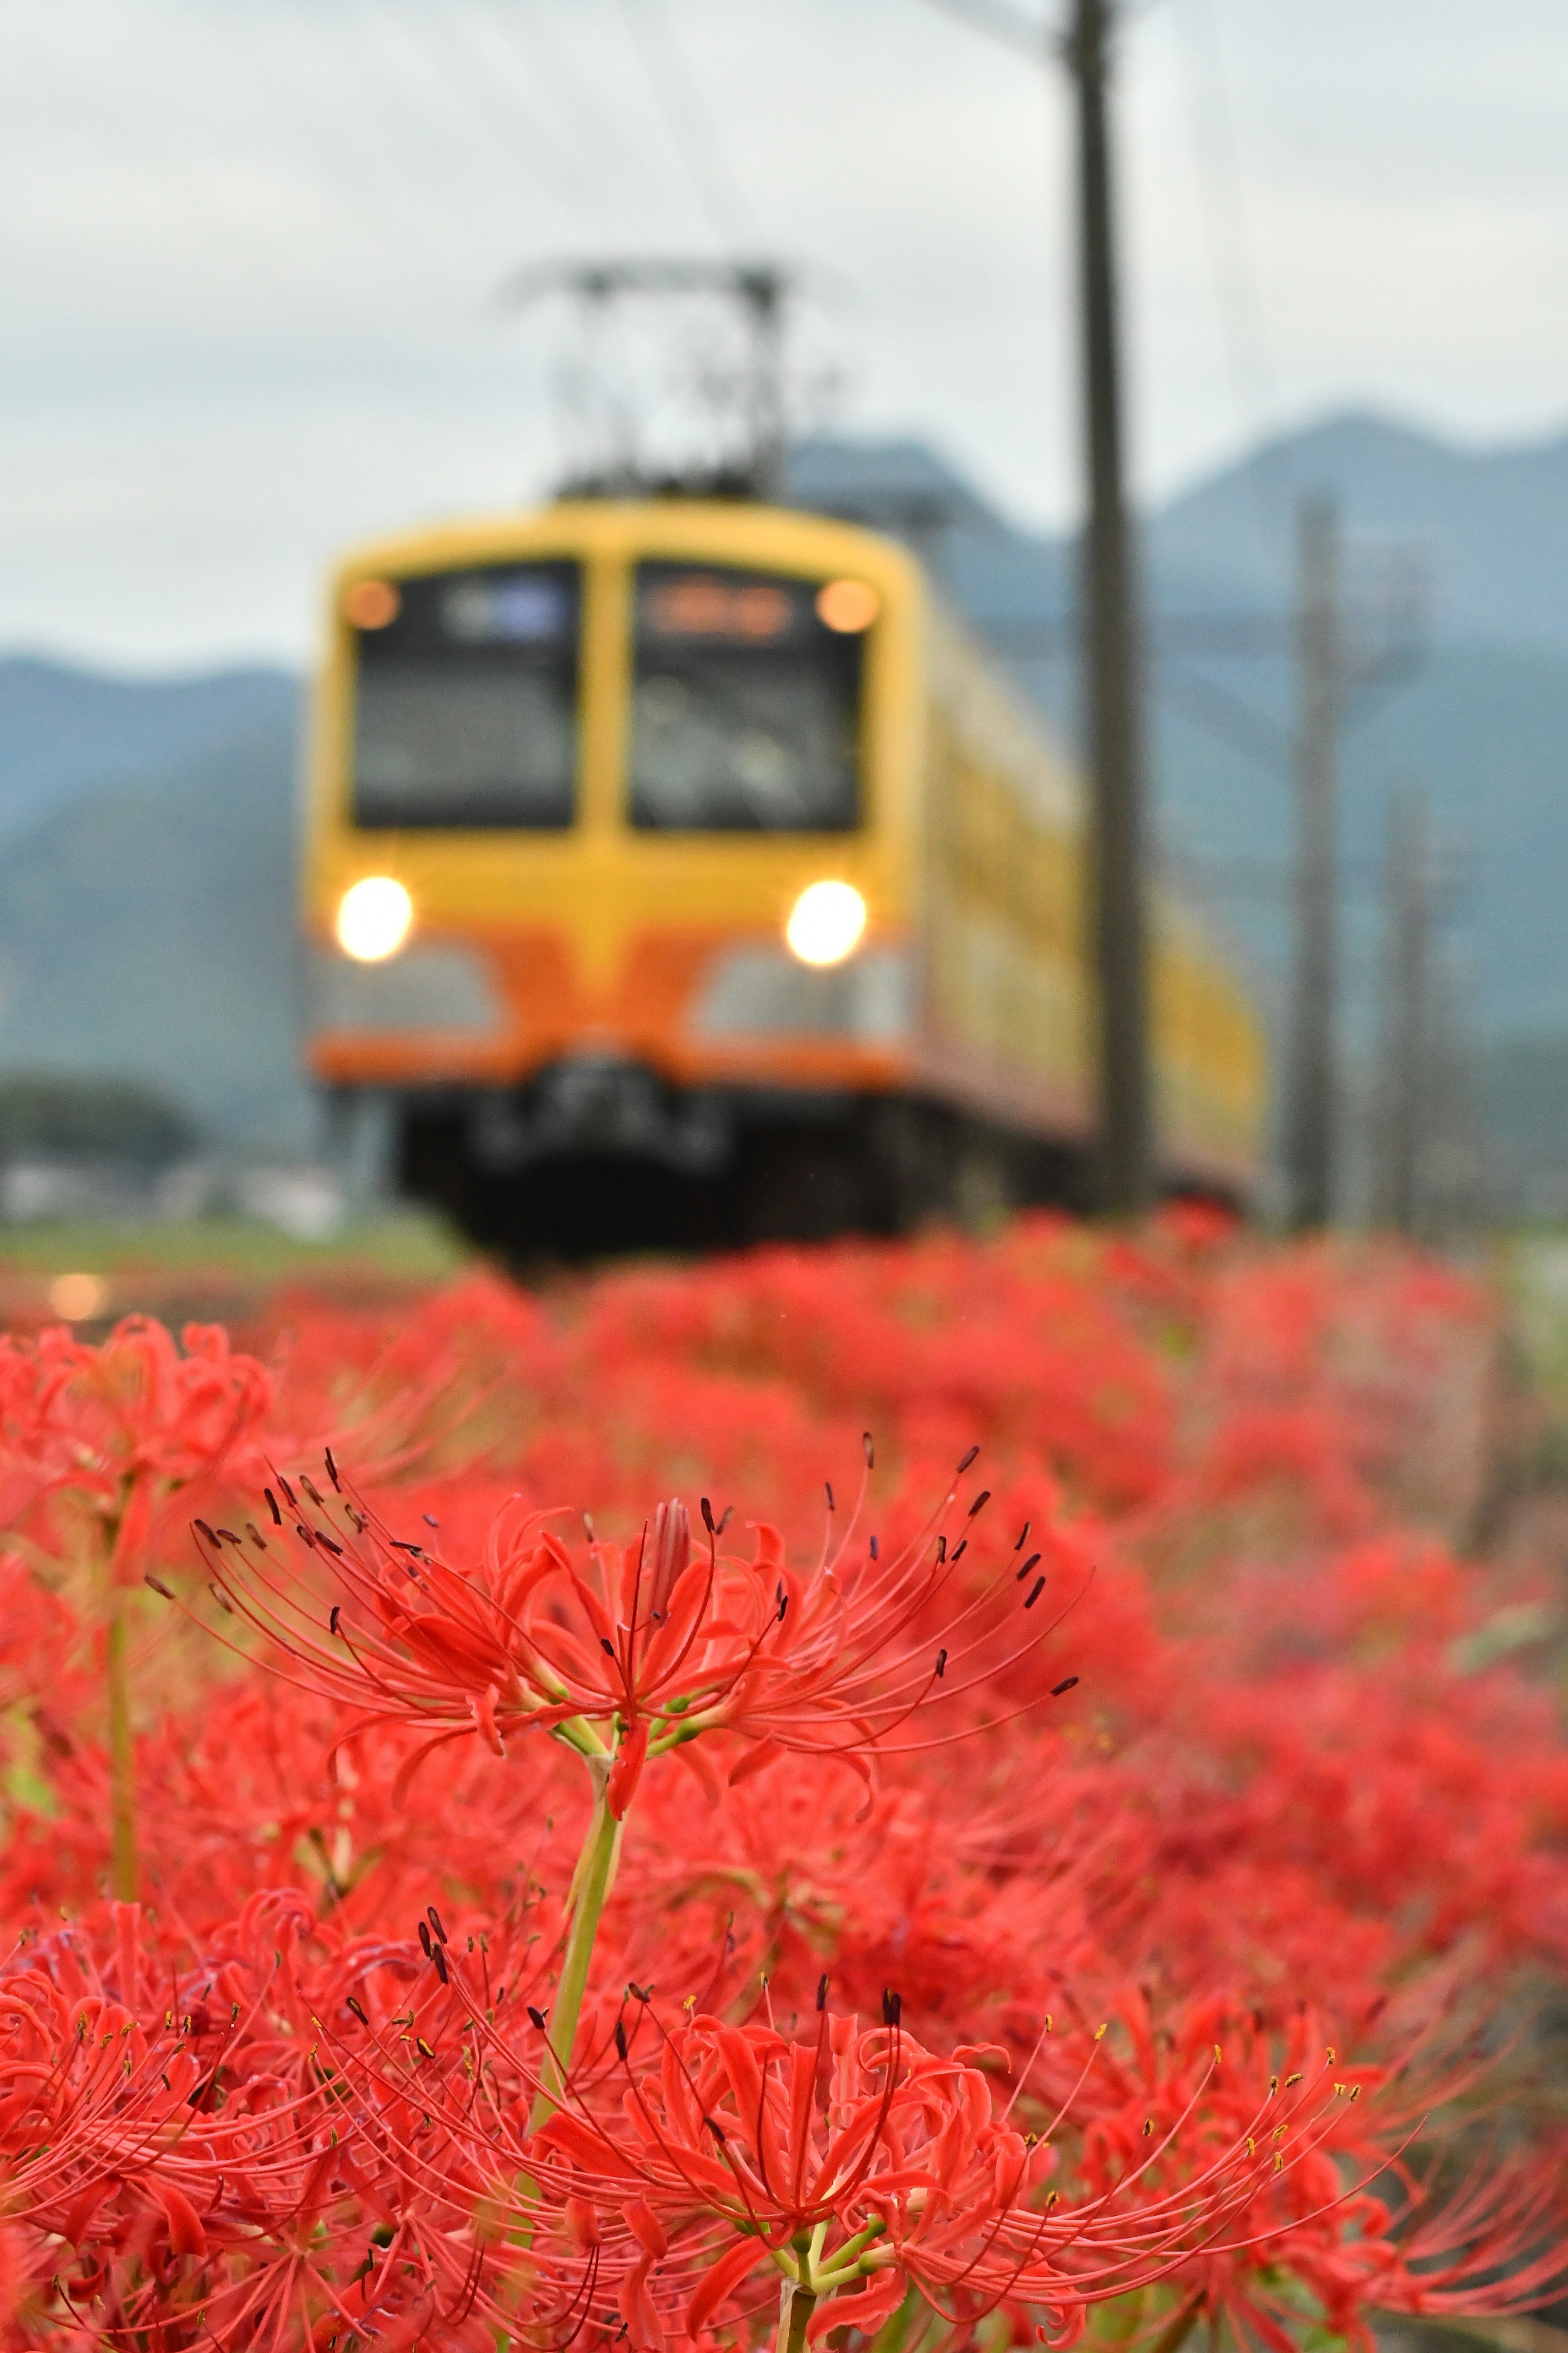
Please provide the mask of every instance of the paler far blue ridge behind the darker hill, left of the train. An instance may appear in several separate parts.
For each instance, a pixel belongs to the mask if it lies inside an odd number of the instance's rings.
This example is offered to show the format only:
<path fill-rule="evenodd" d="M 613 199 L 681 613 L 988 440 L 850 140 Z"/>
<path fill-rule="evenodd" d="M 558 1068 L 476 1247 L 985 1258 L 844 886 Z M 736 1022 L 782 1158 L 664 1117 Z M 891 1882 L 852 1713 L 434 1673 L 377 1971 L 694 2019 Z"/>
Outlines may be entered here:
<path fill-rule="evenodd" d="M 103 784 L 221 753 L 256 727 L 294 729 L 287 671 L 103 678 L 38 654 L 0 656 L 0 838 Z"/>

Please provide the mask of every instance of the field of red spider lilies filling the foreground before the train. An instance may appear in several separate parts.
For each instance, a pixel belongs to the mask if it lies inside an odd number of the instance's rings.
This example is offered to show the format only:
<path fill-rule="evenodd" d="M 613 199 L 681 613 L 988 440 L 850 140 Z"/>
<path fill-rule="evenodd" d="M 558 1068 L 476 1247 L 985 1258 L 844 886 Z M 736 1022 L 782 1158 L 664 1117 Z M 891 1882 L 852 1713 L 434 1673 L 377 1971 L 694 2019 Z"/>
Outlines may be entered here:
<path fill-rule="evenodd" d="M 1497 1341 L 1197 1212 L 0 1341 L 0 2341 L 1561 2294 Z"/>

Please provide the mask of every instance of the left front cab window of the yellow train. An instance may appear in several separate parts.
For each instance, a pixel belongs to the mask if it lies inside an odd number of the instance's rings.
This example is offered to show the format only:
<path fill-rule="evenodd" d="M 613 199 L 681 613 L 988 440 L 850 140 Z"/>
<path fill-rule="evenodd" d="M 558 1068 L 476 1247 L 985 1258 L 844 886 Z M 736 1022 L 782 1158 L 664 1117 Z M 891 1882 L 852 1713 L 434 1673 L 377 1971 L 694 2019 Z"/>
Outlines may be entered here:
<path fill-rule="evenodd" d="M 343 609 L 357 654 L 357 826 L 571 826 L 576 565 L 357 581 Z"/>

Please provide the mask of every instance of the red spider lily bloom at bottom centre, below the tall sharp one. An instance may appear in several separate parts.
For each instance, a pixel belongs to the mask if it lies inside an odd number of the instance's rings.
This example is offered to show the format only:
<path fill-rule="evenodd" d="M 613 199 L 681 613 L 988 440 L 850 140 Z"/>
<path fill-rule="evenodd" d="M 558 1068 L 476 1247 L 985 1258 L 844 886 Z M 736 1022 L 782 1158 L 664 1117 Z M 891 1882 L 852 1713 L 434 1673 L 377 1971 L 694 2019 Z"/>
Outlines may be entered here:
<path fill-rule="evenodd" d="M 618 2028 L 618 2111 L 578 2097 L 529 2144 L 567 2228 L 592 2217 L 599 2280 L 639 2348 L 733 2299 L 752 2311 L 759 2266 L 816 2308 L 813 2339 L 875 2334 L 914 2287 L 961 2325 L 1006 2301 L 1072 2341 L 1088 2304 L 1164 2275 L 1251 2193 L 1241 2137 L 1175 2195 L 1152 2184 L 1159 2144 L 1112 2191 L 1063 2202 L 1046 2188 L 1056 2148 L 997 2111 L 978 2054 L 922 2049 L 896 1995 L 870 2033 L 823 2002 L 825 1981 L 811 2040 L 698 2017 L 646 2073 Z"/>

